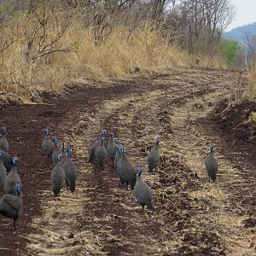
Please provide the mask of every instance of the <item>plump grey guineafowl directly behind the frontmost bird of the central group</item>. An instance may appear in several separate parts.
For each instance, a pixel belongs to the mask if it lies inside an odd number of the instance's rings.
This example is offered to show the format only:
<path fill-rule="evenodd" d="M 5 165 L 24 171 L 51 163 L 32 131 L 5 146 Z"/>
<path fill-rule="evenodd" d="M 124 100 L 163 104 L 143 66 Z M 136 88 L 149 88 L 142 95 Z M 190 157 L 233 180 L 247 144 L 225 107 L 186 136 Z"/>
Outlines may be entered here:
<path fill-rule="evenodd" d="M 131 161 L 127 158 L 124 148 L 121 147 L 119 150 L 121 153 L 121 157 L 118 160 L 120 183 L 125 183 L 127 189 L 128 185 L 130 185 L 131 190 L 133 190 L 137 179 L 136 171 L 131 165 Z"/>

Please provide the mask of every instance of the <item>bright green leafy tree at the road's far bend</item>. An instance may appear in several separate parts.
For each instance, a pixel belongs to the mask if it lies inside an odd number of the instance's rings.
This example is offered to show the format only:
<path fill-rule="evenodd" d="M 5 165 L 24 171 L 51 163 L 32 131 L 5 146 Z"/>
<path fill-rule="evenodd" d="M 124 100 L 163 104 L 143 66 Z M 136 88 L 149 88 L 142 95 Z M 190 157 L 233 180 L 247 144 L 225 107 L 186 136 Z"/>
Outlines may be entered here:
<path fill-rule="evenodd" d="M 239 43 L 221 38 L 219 49 L 228 66 L 233 67 L 239 54 L 239 49 L 241 49 Z"/>

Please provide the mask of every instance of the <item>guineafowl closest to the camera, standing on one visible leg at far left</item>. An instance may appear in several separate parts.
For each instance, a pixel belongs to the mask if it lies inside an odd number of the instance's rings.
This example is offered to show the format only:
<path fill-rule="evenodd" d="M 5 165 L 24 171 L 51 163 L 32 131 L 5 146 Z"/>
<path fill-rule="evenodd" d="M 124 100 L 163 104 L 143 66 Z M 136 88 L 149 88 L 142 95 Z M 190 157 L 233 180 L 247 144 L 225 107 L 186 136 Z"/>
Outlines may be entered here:
<path fill-rule="evenodd" d="M 0 200 L 0 214 L 7 218 L 14 219 L 16 231 L 16 220 L 20 218 L 22 212 L 21 183 L 15 185 L 15 195 L 5 194 Z"/>

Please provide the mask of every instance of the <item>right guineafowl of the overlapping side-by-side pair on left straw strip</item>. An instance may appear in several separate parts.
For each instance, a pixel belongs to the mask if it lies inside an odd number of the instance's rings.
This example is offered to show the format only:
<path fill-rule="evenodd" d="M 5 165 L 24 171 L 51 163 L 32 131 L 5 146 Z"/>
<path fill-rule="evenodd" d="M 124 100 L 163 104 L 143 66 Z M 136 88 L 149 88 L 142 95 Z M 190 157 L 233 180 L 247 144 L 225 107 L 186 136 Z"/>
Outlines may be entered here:
<path fill-rule="evenodd" d="M 70 154 L 72 153 L 71 148 L 67 148 L 66 150 L 66 161 L 62 166 L 65 172 L 65 181 L 67 183 L 67 188 L 73 193 L 76 189 L 76 178 L 77 178 L 77 167 L 74 165 L 73 160 L 70 158 Z"/>

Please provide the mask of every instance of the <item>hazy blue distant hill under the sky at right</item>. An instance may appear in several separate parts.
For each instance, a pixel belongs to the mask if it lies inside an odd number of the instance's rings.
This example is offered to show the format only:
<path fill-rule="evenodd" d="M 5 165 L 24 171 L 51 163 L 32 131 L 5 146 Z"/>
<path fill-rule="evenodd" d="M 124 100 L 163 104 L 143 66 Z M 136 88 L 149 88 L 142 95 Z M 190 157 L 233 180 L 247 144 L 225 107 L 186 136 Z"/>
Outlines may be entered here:
<path fill-rule="evenodd" d="M 245 33 L 256 36 L 256 22 L 233 28 L 230 32 L 224 33 L 224 38 L 227 38 L 228 40 L 236 40 L 240 44 L 244 44 L 243 38 L 245 37 Z"/>

